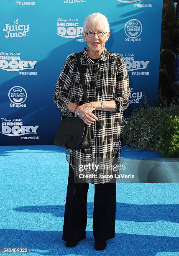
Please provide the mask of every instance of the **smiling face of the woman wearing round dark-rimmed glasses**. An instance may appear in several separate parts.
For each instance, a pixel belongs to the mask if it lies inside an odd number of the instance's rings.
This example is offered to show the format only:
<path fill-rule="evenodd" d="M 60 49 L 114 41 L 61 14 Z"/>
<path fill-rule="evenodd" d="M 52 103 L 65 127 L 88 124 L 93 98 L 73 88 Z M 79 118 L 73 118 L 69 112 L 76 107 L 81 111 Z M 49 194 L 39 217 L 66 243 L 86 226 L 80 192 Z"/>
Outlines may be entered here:
<path fill-rule="evenodd" d="M 97 24 L 90 24 L 87 26 L 86 33 L 89 31 L 97 32 L 97 31 L 102 31 L 106 32 L 104 25 L 102 23 L 97 23 Z M 104 36 L 99 37 L 97 34 L 95 34 L 93 37 L 89 37 L 88 35 L 83 34 L 84 41 L 87 42 L 87 46 L 89 47 L 90 51 L 92 52 L 99 52 L 100 54 L 102 53 L 105 43 L 107 39 L 110 36 L 110 31 L 104 34 Z"/>

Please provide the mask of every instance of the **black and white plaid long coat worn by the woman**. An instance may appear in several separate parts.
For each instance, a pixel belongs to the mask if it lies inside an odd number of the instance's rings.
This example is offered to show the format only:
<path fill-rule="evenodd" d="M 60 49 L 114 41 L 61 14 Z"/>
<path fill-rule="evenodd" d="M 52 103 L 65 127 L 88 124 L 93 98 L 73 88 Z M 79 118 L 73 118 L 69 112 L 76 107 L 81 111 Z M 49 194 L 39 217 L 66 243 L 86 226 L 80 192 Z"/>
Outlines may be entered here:
<path fill-rule="evenodd" d="M 113 112 L 93 110 L 92 113 L 99 120 L 91 125 L 92 146 L 86 149 L 69 149 L 66 160 L 82 183 L 103 184 L 112 179 L 112 176 L 107 176 L 112 174 L 110 167 L 87 168 L 87 170 L 79 171 L 79 164 L 99 163 L 100 159 L 101 164 L 111 166 L 116 154 L 118 155 L 117 162 L 120 164 L 121 133 L 124 126 L 123 110 L 129 105 L 131 90 L 128 71 L 122 56 L 104 48 L 99 61 L 95 63 L 89 58 L 87 50 L 88 47 L 84 47 L 84 50 L 80 52 L 80 61 L 89 102 L 114 100 L 116 109 Z M 86 103 L 75 54 L 66 58 L 53 97 L 61 113 L 70 117 L 74 116 L 74 113 L 67 109 L 69 102 L 78 105 Z M 119 170 L 115 173 L 117 176 Z M 97 177 L 93 175 L 89 178 L 79 176 L 79 174 L 97 174 Z M 106 176 L 100 178 L 99 174 Z"/>

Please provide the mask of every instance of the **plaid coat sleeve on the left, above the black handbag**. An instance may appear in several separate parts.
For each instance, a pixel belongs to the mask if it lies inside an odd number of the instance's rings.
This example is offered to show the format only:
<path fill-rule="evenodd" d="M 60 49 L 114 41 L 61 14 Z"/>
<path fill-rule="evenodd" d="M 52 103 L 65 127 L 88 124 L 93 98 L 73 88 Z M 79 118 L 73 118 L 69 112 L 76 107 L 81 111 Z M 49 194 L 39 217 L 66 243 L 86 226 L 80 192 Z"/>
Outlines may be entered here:
<path fill-rule="evenodd" d="M 54 102 L 63 115 L 70 113 L 67 105 L 72 101 L 73 67 L 74 58 L 70 55 L 66 58 L 64 67 L 61 69 L 53 94 Z"/>

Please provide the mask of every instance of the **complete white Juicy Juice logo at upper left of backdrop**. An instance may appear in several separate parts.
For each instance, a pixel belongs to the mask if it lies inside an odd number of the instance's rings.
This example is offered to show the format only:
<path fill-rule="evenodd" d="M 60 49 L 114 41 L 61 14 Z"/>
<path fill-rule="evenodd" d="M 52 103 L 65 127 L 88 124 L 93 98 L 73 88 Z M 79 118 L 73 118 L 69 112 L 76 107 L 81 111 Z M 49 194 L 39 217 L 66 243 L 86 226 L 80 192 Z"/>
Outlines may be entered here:
<path fill-rule="evenodd" d="M 29 31 L 29 24 L 18 25 L 18 19 L 14 21 L 14 24 L 15 25 L 9 25 L 9 23 L 5 24 L 5 28 L 3 28 L 3 31 L 7 32 L 5 38 L 26 37 Z"/>

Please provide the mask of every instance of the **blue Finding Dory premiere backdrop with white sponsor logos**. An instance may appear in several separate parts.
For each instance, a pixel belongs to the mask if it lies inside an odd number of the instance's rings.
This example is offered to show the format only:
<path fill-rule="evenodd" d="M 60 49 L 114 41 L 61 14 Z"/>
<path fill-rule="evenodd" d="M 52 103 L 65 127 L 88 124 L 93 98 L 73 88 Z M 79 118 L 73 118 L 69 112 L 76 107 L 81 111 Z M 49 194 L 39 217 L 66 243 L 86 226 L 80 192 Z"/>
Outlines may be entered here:
<path fill-rule="evenodd" d="M 84 18 L 110 23 L 106 48 L 130 76 L 128 120 L 145 96 L 157 105 L 163 0 L 0 1 L 0 145 L 48 145 L 61 122 L 53 100 L 66 57 L 82 51 Z"/>

